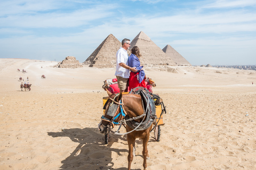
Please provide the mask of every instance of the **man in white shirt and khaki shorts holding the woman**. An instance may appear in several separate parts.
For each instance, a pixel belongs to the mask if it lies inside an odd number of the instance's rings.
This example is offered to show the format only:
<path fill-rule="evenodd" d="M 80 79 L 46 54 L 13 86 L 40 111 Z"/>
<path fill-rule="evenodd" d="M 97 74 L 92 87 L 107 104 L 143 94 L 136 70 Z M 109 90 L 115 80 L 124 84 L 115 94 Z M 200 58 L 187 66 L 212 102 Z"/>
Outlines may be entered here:
<path fill-rule="evenodd" d="M 127 83 L 130 77 L 130 70 L 133 72 L 137 72 L 136 67 L 128 66 L 128 54 L 127 49 L 130 47 L 130 39 L 122 40 L 122 47 L 118 49 L 116 53 L 116 73 L 115 76 L 117 78 L 117 83 L 120 92 L 124 92 L 127 89 Z"/>

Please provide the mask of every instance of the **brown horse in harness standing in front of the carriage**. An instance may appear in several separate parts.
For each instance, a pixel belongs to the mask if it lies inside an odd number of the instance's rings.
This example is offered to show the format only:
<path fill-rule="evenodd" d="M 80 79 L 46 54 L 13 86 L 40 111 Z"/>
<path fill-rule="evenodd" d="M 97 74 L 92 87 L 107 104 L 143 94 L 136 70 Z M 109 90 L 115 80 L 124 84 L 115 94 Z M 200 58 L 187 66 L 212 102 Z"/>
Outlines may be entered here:
<path fill-rule="evenodd" d="M 107 89 L 106 89 L 107 90 Z M 138 119 L 135 119 L 135 122 L 142 123 L 143 120 L 145 120 L 144 109 L 142 106 L 142 100 L 140 95 L 136 94 L 122 94 L 120 93 L 119 96 L 116 96 L 116 94 L 111 94 L 107 90 L 107 93 L 109 95 L 109 99 L 106 102 L 106 110 L 105 114 L 102 116 L 102 120 L 98 125 L 99 131 L 101 133 L 108 133 L 110 129 L 114 128 L 114 123 L 119 122 L 123 120 L 124 116 L 127 115 L 131 118 L 137 117 Z M 122 103 L 121 103 L 122 102 Z M 114 107 L 118 107 L 114 115 L 110 116 L 111 113 L 108 113 L 109 110 L 113 110 L 110 107 L 112 105 L 116 105 Z M 118 113 L 121 111 L 120 105 L 122 105 L 123 111 L 125 113 L 121 114 L 117 117 Z M 117 117 L 114 120 L 114 117 Z M 129 146 L 129 154 L 128 154 L 128 170 L 131 169 L 131 163 L 133 160 L 133 156 L 135 155 L 135 151 L 133 152 L 133 148 L 135 149 L 135 139 L 140 138 L 143 142 L 143 167 L 144 170 L 147 169 L 147 158 L 149 158 L 148 155 L 148 140 L 150 135 L 150 130 L 152 129 L 153 124 L 149 126 L 149 128 L 145 130 L 134 130 L 130 128 L 128 125 L 126 125 L 126 132 L 127 132 L 127 142 Z M 129 133 L 130 132 L 130 133 Z"/>

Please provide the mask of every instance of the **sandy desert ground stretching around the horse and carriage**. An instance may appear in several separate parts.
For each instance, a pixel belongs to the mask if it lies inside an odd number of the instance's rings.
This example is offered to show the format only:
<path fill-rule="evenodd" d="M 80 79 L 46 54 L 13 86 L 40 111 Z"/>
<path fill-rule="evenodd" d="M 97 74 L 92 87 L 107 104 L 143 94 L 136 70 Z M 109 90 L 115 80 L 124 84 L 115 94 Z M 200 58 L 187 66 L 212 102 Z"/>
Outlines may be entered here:
<path fill-rule="evenodd" d="M 103 81 L 115 69 L 55 64 L 0 58 L 0 169 L 125 170 L 126 135 L 110 134 L 105 145 L 97 129 Z M 178 73 L 145 66 L 167 106 L 160 141 L 150 135 L 148 170 L 256 169 L 256 71 L 172 68 Z M 19 77 L 31 91 L 20 90 Z M 139 139 L 136 147 L 138 170 Z"/>

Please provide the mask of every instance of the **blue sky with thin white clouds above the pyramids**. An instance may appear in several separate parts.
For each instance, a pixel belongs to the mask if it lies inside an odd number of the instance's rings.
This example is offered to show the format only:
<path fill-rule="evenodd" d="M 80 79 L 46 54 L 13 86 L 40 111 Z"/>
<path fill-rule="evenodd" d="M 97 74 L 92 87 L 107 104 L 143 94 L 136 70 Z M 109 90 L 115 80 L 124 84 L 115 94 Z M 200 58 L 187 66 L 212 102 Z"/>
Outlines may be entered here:
<path fill-rule="evenodd" d="M 0 58 L 82 63 L 110 33 L 140 31 L 192 65 L 256 65 L 255 0 L 0 2 Z"/>

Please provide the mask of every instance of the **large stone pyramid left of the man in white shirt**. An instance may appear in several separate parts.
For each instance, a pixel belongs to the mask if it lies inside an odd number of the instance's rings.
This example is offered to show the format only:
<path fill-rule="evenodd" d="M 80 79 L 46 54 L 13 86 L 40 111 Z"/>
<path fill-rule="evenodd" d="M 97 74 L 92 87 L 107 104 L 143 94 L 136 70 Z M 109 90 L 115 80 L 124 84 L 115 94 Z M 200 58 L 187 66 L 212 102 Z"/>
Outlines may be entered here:
<path fill-rule="evenodd" d="M 110 34 L 85 60 L 84 64 L 89 64 L 89 67 L 98 68 L 115 67 L 116 52 L 121 46 L 121 42 Z"/>

